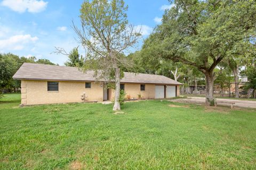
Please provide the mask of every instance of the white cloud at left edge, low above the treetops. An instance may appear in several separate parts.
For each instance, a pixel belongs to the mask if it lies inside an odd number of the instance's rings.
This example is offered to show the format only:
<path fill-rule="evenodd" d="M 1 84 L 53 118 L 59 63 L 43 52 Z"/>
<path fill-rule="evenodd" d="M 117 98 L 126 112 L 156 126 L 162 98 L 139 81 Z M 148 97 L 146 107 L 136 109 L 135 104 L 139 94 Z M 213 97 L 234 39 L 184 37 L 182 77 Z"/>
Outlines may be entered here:
<path fill-rule="evenodd" d="M 37 37 L 31 37 L 31 35 L 17 35 L 7 39 L 0 40 L 0 49 L 8 50 L 21 50 L 25 45 L 29 43 L 35 43 Z"/>

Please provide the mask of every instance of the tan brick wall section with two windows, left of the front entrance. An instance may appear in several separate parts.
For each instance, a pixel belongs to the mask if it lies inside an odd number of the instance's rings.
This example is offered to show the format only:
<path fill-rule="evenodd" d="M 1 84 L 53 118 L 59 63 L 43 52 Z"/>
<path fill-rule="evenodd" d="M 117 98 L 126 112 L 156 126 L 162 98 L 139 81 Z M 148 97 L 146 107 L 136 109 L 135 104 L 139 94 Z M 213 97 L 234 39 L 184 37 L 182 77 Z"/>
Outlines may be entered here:
<path fill-rule="evenodd" d="M 24 105 L 83 102 L 83 93 L 86 101 L 103 101 L 100 83 L 91 82 L 91 89 L 85 89 L 85 82 L 59 81 L 59 91 L 47 91 L 47 81 L 21 81 L 21 104 Z"/>

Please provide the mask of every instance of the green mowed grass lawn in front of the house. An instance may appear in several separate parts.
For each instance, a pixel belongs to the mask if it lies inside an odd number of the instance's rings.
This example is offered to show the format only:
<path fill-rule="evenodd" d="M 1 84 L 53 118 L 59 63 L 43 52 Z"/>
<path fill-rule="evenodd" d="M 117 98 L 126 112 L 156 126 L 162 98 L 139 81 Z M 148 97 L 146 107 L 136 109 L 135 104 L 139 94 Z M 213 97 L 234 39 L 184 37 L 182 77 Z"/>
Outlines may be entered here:
<path fill-rule="evenodd" d="M 148 100 L 0 102 L 0 169 L 256 169 L 256 111 Z"/>

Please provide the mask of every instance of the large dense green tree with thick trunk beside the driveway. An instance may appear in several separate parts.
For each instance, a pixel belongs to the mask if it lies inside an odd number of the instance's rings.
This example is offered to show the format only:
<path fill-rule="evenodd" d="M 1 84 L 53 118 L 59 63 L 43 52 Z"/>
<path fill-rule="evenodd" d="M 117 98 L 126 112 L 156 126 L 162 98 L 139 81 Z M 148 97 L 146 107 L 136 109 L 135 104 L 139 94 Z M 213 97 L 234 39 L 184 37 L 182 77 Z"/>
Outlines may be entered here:
<path fill-rule="evenodd" d="M 213 70 L 223 58 L 244 54 L 252 48 L 255 4 L 253 0 L 175 0 L 143 48 L 201 71 L 206 79 L 205 103 L 214 105 Z"/>

